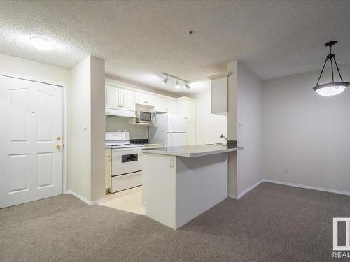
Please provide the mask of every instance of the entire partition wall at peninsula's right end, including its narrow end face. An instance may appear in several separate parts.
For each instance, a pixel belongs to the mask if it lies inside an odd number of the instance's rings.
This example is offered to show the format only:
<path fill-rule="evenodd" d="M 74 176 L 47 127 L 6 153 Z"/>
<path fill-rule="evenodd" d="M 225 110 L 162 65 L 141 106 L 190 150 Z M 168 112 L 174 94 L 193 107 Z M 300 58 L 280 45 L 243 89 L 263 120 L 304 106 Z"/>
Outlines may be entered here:
<path fill-rule="evenodd" d="M 239 61 L 228 64 L 228 137 L 244 150 L 228 156 L 229 195 L 262 179 L 262 82 Z"/>

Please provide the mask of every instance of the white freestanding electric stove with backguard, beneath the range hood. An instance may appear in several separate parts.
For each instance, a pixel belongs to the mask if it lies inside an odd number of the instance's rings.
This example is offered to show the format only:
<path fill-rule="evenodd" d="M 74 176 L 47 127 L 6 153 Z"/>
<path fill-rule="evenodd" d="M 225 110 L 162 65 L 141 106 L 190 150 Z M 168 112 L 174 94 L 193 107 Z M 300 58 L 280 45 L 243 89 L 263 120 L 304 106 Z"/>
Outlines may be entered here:
<path fill-rule="evenodd" d="M 142 184 L 142 154 L 144 145 L 130 143 L 128 132 L 106 132 L 106 147 L 111 147 L 111 188 L 115 193 Z"/>

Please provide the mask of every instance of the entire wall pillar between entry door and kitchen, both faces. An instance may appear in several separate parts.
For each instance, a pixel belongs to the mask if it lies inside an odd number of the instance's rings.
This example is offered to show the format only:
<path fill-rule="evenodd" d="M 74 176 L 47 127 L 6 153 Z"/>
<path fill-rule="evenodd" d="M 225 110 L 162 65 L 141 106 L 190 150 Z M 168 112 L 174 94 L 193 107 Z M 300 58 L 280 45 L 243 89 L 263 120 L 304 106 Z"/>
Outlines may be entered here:
<path fill-rule="evenodd" d="M 104 60 L 87 57 L 71 69 L 69 189 L 104 198 Z"/>

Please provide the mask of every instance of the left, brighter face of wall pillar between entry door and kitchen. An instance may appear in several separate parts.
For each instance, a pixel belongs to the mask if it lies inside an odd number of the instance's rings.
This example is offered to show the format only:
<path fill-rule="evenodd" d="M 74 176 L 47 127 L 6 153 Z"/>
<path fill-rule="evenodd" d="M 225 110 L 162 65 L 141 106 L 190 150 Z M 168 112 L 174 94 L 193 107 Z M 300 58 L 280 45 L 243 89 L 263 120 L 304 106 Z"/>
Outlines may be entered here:
<path fill-rule="evenodd" d="M 70 94 L 68 189 L 90 200 L 90 57 L 71 68 Z"/>

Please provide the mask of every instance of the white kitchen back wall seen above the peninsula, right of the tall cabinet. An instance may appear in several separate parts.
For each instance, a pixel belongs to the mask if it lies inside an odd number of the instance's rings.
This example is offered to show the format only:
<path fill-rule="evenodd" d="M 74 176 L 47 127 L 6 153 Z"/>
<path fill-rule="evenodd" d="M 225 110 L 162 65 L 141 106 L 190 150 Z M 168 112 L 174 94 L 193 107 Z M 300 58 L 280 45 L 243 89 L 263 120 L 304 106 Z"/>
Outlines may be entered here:
<path fill-rule="evenodd" d="M 228 117 L 211 114 L 211 91 L 191 96 L 196 99 L 196 144 L 223 143 L 228 134 Z"/>

